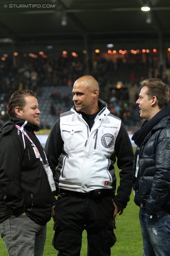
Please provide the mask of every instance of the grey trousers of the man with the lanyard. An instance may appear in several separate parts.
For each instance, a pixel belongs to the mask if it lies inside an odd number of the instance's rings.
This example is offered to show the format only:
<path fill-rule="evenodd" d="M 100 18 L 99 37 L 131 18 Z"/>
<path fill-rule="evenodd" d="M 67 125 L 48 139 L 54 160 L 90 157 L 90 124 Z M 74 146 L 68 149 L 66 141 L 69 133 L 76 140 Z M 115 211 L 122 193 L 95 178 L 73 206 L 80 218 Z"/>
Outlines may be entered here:
<path fill-rule="evenodd" d="M 0 236 L 9 256 L 43 256 L 46 229 L 27 215 L 12 215 L 0 223 Z"/>

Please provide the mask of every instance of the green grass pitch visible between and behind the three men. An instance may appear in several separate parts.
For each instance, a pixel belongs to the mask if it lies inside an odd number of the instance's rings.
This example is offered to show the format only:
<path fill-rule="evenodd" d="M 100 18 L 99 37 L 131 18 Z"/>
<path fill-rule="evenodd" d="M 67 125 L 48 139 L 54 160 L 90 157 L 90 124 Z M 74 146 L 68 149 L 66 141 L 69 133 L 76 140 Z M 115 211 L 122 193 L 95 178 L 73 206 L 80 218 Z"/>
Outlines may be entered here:
<path fill-rule="evenodd" d="M 117 182 L 119 180 L 119 169 L 116 168 Z M 133 192 L 131 200 L 127 204 L 121 216 L 116 217 L 115 235 L 117 242 L 111 248 L 111 256 L 143 256 L 142 235 L 139 224 L 139 207 L 133 202 Z M 43 256 L 57 256 L 57 251 L 52 246 L 53 239 L 53 220 L 47 224 L 47 240 Z M 0 239 L 0 256 L 8 256 L 2 239 Z M 82 250 L 80 256 L 87 256 L 86 231 L 83 232 Z"/>

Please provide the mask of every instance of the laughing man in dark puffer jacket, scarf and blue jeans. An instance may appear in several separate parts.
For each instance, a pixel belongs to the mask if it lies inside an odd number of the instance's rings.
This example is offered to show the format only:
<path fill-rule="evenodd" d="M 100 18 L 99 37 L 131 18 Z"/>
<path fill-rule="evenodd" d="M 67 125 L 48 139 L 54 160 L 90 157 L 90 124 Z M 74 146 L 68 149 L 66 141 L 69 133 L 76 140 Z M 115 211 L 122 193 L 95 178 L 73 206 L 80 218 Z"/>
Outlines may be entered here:
<path fill-rule="evenodd" d="M 170 92 L 160 79 L 141 82 L 137 104 L 145 118 L 132 139 L 137 144 L 133 166 L 135 204 L 144 256 L 170 255 Z"/>

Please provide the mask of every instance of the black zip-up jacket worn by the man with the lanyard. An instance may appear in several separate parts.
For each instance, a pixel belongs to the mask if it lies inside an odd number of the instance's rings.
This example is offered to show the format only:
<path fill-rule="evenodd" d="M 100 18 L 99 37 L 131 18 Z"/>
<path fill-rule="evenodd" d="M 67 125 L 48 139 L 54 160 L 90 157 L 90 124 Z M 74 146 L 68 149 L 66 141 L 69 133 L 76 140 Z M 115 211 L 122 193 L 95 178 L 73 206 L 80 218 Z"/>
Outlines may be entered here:
<path fill-rule="evenodd" d="M 33 145 L 15 127 L 15 124 L 21 127 L 25 120 L 16 117 L 10 120 L 0 130 L 0 223 L 25 212 L 37 224 L 45 225 L 51 219 L 55 197 Z M 43 148 L 33 132 L 39 127 L 27 122 L 24 130 L 46 164 Z"/>

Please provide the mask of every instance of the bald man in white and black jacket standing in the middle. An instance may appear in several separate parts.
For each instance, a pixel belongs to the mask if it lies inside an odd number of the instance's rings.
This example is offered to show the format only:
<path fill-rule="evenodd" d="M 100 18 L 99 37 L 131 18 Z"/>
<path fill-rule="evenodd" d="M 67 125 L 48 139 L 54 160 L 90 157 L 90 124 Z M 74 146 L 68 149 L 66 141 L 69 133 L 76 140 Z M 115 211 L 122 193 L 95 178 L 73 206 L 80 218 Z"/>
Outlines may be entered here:
<path fill-rule="evenodd" d="M 72 94 L 74 106 L 60 115 L 45 145 L 59 194 L 53 246 L 58 256 L 80 256 L 85 229 L 88 256 L 109 256 L 115 217 L 132 190 L 133 149 L 121 120 L 98 99 L 94 77 L 76 80 Z M 115 196 L 116 157 L 121 180 Z"/>

